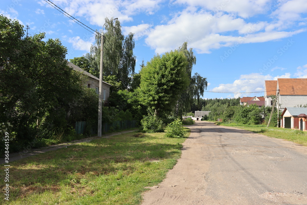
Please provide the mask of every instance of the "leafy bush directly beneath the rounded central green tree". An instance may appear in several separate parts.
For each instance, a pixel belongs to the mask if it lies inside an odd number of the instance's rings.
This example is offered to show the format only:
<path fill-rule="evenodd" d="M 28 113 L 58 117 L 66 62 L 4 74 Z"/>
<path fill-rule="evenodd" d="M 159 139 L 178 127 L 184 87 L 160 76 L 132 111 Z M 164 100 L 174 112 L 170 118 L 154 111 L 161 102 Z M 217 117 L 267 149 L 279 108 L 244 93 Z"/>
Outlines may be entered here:
<path fill-rule="evenodd" d="M 141 124 L 145 132 L 164 132 L 163 122 L 157 116 L 146 116 L 141 120 Z"/>

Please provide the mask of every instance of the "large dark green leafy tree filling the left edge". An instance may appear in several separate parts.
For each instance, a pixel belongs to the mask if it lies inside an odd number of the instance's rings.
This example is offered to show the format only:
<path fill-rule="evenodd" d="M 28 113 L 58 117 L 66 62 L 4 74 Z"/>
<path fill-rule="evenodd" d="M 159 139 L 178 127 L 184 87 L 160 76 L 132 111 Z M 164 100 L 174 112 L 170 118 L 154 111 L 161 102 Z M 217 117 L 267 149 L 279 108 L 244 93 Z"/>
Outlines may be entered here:
<path fill-rule="evenodd" d="M 69 113 L 82 98 L 82 80 L 67 65 L 67 49 L 45 34 L 24 37 L 17 21 L 0 16 L 0 121 L 10 122 L 12 142 L 22 148 L 43 130 L 68 127 Z"/>

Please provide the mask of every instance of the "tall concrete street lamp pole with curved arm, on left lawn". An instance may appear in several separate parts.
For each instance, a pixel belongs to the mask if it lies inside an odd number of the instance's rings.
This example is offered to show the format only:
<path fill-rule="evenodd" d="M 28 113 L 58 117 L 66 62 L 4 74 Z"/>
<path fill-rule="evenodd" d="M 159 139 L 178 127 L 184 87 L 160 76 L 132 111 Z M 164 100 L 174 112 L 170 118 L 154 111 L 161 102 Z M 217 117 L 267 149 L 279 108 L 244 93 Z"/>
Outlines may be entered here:
<path fill-rule="evenodd" d="M 118 18 L 112 19 L 110 21 L 114 21 Z M 107 22 L 110 22 L 107 21 Z M 107 23 L 105 22 L 103 26 Z M 98 103 L 98 137 L 101 137 L 101 124 L 102 124 L 102 77 L 103 77 L 103 26 L 102 26 L 102 34 L 100 36 L 100 70 L 99 70 L 99 103 Z"/>

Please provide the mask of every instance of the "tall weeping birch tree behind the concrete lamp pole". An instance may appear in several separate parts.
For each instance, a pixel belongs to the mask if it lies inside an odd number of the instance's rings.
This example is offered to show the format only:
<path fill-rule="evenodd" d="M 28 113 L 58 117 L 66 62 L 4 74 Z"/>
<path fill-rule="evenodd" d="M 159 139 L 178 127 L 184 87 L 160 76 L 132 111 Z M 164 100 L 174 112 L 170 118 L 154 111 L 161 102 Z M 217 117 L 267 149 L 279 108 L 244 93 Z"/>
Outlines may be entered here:
<path fill-rule="evenodd" d="M 129 76 L 134 74 L 135 59 L 134 34 L 129 33 L 128 36 L 122 34 L 120 22 L 109 21 L 105 19 L 106 32 L 104 33 L 103 45 L 103 76 L 116 76 L 118 81 L 122 82 L 123 88 L 126 89 L 129 83 Z M 92 74 L 99 77 L 100 63 L 100 34 L 96 33 L 95 44 L 91 46 L 90 53 L 85 57 L 90 61 Z"/>

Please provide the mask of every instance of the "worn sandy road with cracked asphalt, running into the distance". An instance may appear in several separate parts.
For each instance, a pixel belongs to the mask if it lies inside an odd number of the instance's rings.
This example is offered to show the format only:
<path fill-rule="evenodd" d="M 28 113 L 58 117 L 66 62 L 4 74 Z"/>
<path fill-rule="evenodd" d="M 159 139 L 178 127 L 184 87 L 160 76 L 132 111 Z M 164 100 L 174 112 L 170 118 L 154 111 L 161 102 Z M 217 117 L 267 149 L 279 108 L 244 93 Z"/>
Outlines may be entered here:
<path fill-rule="evenodd" d="M 197 122 L 148 204 L 307 204 L 307 147 Z"/>

